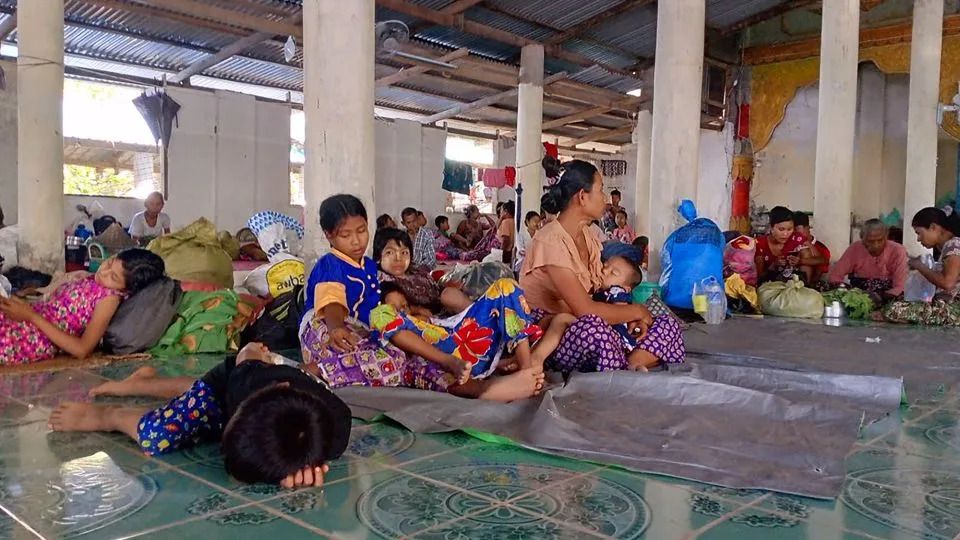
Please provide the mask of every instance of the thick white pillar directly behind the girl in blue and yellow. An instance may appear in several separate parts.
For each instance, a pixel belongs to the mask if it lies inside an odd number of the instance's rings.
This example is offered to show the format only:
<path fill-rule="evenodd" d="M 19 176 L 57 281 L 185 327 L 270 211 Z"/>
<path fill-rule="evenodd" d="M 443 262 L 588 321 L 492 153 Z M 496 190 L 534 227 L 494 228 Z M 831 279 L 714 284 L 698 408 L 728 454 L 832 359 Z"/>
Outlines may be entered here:
<path fill-rule="evenodd" d="M 308 262 L 329 251 L 320 203 L 348 193 L 363 201 L 373 240 L 374 0 L 304 0 L 303 168 Z"/>

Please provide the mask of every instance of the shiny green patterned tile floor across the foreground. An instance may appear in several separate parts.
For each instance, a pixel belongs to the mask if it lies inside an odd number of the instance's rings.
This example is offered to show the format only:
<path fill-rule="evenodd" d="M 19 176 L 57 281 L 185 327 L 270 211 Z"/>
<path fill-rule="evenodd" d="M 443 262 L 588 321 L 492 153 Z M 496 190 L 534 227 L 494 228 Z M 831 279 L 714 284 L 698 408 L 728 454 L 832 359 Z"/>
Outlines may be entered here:
<path fill-rule="evenodd" d="M 200 375 L 215 359 L 154 364 Z M 954 538 L 960 400 L 913 396 L 864 429 L 837 500 L 634 474 L 462 434 L 354 429 L 322 489 L 228 478 L 205 446 L 149 459 L 118 435 L 54 434 L 50 408 L 132 366 L 0 376 L 0 538 Z"/>

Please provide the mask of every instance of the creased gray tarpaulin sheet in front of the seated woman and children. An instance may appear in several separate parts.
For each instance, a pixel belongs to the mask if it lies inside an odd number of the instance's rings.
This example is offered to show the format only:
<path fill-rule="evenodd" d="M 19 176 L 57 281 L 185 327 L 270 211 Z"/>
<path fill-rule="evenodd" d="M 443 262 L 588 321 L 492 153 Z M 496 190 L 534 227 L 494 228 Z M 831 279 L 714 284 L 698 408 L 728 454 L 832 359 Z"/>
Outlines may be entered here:
<path fill-rule="evenodd" d="M 865 415 L 900 403 L 894 378 L 687 365 L 574 374 L 510 404 L 405 388 L 337 391 L 356 416 L 416 432 L 475 430 L 521 446 L 734 488 L 831 498 Z"/>

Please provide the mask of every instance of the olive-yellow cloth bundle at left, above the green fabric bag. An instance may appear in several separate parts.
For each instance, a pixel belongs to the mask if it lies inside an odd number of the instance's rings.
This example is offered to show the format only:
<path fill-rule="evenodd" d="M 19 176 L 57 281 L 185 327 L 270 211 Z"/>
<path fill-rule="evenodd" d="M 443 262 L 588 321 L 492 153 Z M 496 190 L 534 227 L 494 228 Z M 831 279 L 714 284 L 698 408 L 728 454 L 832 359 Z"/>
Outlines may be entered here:
<path fill-rule="evenodd" d="M 185 290 L 233 288 L 233 258 L 240 245 L 229 233 L 219 235 L 205 218 L 153 240 L 147 249 L 163 258 L 167 275 Z"/>

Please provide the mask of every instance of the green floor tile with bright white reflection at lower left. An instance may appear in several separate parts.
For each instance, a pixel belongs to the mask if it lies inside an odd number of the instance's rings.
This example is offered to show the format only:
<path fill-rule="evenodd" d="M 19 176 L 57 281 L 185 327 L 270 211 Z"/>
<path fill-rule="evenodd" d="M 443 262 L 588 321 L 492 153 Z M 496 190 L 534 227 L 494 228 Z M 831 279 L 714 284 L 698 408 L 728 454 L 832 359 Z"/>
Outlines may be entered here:
<path fill-rule="evenodd" d="M 209 511 L 191 506 L 209 486 L 177 472 L 139 474 L 107 454 L 2 474 L 0 504 L 47 538 L 117 538 Z M 223 498 L 226 506 L 242 502 Z"/>

